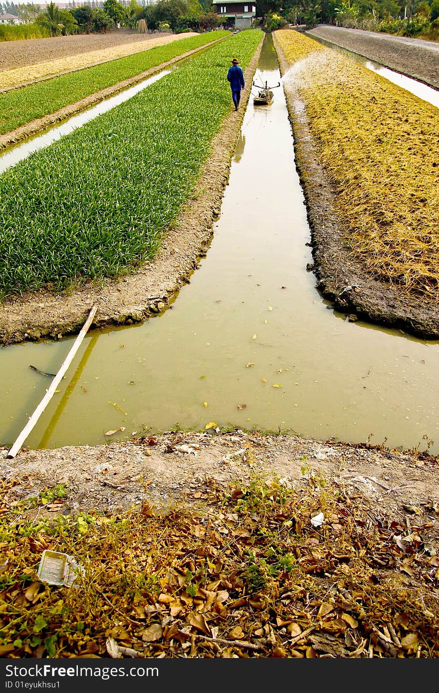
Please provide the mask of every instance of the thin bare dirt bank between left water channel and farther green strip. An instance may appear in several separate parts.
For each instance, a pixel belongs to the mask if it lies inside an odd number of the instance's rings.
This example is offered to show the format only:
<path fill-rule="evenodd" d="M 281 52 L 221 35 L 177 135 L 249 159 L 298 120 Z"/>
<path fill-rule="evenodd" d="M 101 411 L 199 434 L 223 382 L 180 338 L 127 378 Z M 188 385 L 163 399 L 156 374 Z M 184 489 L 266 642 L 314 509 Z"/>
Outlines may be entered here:
<path fill-rule="evenodd" d="M 212 43 L 215 42 L 213 41 Z M 205 44 L 204 46 L 200 46 L 200 48 L 196 48 L 192 51 L 182 53 L 182 55 L 178 55 L 176 58 L 173 58 L 172 60 L 162 62 L 162 64 L 157 65 L 156 67 L 150 67 L 150 69 L 139 73 L 135 77 L 130 77 L 126 80 L 123 80 L 122 82 L 117 82 L 117 84 L 112 85 L 111 87 L 106 87 L 105 89 L 101 89 L 101 91 L 95 91 L 94 94 L 90 94 L 90 96 L 86 96 L 85 98 L 76 101 L 76 103 L 71 103 L 68 106 L 64 106 L 63 108 L 60 108 L 58 111 L 55 111 L 55 113 L 49 113 L 48 115 L 43 116 L 42 118 L 37 118 L 35 119 L 35 121 L 31 121 L 31 123 L 20 125 L 19 128 L 15 128 L 15 130 L 11 130 L 10 132 L 6 132 L 5 134 L 0 135 L 0 150 L 6 149 L 7 147 L 10 147 L 12 144 L 16 144 L 17 142 L 20 142 L 21 140 L 26 139 L 27 137 L 31 137 L 33 134 L 37 134 L 37 132 L 41 132 L 42 130 L 49 128 L 51 125 L 55 125 L 55 123 L 60 123 L 61 121 L 64 121 L 66 118 L 74 116 L 76 113 L 80 113 L 86 108 L 96 105 L 96 103 L 103 101 L 105 98 L 108 98 L 109 96 L 119 94 L 119 91 L 128 89 L 129 87 L 138 84 L 138 82 L 146 80 L 148 77 L 155 75 L 157 72 L 166 70 L 168 67 L 175 64 L 175 62 L 183 60 L 183 58 L 188 58 L 189 55 L 193 55 L 193 53 L 203 51 L 207 48 L 207 46 L 212 46 L 212 43 Z"/>

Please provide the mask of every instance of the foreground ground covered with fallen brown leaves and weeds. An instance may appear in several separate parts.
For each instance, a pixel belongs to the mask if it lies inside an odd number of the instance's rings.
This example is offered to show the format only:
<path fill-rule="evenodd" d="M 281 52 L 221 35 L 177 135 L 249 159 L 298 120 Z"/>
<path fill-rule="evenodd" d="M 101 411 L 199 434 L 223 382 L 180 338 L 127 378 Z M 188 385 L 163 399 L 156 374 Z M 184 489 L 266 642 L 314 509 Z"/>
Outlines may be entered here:
<path fill-rule="evenodd" d="M 295 489 L 203 484 L 202 506 L 164 515 L 146 501 L 55 515 L 61 485 L 26 500 L 13 486 L 0 514 L 2 657 L 439 655 L 433 523 L 404 525 L 308 468 Z M 82 565 L 76 587 L 37 578 L 44 550 Z"/>

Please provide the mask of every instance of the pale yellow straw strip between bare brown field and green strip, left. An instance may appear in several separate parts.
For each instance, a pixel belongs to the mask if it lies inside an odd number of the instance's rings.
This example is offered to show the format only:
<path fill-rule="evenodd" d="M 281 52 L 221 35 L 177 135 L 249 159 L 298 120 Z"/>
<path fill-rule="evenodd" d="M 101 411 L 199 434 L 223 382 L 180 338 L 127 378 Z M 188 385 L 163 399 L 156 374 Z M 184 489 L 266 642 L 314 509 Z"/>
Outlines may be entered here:
<path fill-rule="evenodd" d="M 68 58 L 58 58 L 57 60 L 39 62 L 35 65 L 26 65 L 25 67 L 16 67 L 12 70 L 4 70 L 0 72 L 0 90 L 30 84 L 37 80 L 55 77 L 56 75 L 80 70 L 85 67 L 92 67 L 101 62 L 108 62 L 109 60 L 123 58 L 133 53 L 148 51 L 155 46 L 163 46 L 164 44 L 195 35 L 195 33 L 182 33 L 172 36 L 162 36 L 151 39 L 148 43 L 139 40 L 134 43 L 113 46 L 112 48 L 103 49 L 101 51 L 90 51 L 89 53 L 71 55 Z"/>

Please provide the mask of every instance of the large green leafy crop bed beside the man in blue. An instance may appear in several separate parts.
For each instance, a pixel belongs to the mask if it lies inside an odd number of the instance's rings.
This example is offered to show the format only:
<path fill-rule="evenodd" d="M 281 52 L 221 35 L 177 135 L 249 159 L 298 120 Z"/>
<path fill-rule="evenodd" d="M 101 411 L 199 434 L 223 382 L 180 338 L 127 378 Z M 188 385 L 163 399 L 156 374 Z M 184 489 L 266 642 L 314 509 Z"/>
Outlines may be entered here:
<path fill-rule="evenodd" d="M 178 216 L 262 37 L 224 41 L 0 176 L 0 291 L 115 277 L 151 258 Z M 17 194 L 19 191 L 19 194 Z"/>

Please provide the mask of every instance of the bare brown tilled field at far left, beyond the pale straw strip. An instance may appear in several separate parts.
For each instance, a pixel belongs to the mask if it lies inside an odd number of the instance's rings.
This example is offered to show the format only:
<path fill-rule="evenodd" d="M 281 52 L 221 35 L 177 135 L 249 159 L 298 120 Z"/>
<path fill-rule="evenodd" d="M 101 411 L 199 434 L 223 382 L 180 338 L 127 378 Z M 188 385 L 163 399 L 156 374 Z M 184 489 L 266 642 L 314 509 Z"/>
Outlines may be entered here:
<path fill-rule="evenodd" d="M 35 65 L 39 62 L 67 58 L 69 55 L 88 53 L 111 49 L 114 46 L 124 46 L 133 42 L 148 43 L 158 37 L 171 34 L 153 33 L 138 34 L 133 30 L 112 31 L 107 34 L 80 34 L 78 36 L 55 36 L 48 39 L 26 39 L 22 41 L 0 42 L 0 71 L 10 70 L 25 65 Z"/>

